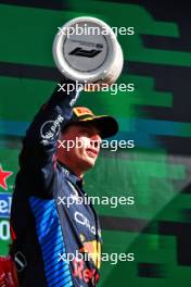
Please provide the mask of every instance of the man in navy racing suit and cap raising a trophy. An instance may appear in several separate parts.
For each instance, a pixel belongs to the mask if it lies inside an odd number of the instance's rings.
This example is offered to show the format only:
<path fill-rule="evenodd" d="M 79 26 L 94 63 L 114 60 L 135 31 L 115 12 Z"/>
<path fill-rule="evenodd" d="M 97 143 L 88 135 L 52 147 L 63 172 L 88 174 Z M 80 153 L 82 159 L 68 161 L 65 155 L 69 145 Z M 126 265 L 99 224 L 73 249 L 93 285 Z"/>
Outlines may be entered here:
<path fill-rule="evenodd" d="M 87 287 L 99 280 L 100 224 L 92 204 L 84 200 L 82 177 L 96 163 L 101 139 L 115 135 L 118 125 L 87 108 L 73 109 L 78 96 L 79 90 L 55 90 L 23 141 L 10 251 L 21 287 Z M 68 148 L 68 142 L 75 145 Z M 68 199 L 73 204 L 66 204 Z"/>

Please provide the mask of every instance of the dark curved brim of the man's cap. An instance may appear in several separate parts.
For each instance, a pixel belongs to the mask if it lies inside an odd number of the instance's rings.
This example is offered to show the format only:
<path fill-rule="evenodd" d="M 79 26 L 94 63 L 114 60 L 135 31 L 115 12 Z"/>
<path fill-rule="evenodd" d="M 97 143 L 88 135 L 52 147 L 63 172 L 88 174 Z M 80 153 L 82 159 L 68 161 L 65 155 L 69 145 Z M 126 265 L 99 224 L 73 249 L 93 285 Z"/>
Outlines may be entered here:
<path fill-rule="evenodd" d="M 87 117 L 84 120 L 78 120 L 78 123 L 90 123 L 94 125 L 100 130 L 100 136 L 102 138 L 113 137 L 118 133 L 117 121 L 109 115 L 100 115 Z"/>

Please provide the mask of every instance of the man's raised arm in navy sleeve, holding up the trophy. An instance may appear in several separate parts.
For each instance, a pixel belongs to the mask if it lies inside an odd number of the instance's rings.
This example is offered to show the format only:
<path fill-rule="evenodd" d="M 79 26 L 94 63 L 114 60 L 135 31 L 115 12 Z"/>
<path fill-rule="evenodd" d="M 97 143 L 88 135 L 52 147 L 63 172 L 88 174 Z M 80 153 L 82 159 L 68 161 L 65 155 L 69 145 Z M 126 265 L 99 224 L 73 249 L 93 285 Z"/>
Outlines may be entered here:
<path fill-rule="evenodd" d="M 27 129 L 20 155 L 21 170 L 31 173 L 43 173 L 43 169 L 49 165 L 49 169 L 46 169 L 46 173 L 48 171 L 46 177 L 48 178 L 50 173 L 52 173 L 60 132 L 71 120 L 73 105 L 79 96 L 79 89 L 74 89 L 69 93 L 66 92 L 68 84 L 73 84 L 75 87 L 75 82 L 67 79 L 62 83 L 63 89 L 58 86 Z M 63 91 L 64 89 L 65 91 Z"/>

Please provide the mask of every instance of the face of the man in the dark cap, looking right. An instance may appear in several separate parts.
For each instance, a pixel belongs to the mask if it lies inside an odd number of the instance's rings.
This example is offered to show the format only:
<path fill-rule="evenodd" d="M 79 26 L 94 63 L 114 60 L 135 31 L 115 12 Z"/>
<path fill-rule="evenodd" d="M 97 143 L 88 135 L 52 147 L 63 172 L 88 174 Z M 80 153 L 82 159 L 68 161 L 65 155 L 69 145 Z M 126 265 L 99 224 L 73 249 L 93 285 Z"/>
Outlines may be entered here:
<path fill-rule="evenodd" d="M 97 127 L 91 124 L 73 124 L 62 134 L 61 142 L 63 145 L 58 149 L 58 159 L 72 171 L 77 169 L 84 173 L 94 165 L 101 144 Z"/>

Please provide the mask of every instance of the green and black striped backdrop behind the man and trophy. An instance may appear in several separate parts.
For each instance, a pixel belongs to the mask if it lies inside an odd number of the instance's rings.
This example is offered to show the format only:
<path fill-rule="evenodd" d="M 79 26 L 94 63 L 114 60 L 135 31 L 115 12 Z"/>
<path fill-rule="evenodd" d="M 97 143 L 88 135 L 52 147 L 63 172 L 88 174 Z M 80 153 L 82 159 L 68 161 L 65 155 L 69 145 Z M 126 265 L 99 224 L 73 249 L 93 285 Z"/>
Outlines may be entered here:
<path fill-rule="evenodd" d="M 190 137 L 191 40 L 189 7 L 153 1 L 0 1 L 0 165 L 13 172 L 26 127 L 54 89 L 59 72 L 52 42 L 67 20 L 97 16 L 118 36 L 125 65 L 118 83 L 133 92 L 82 93 L 78 104 L 118 120 L 115 139 L 133 139 L 133 150 L 102 150 L 86 176 L 88 195 L 133 196 L 133 205 L 98 205 L 103 252 L 133 252 L 133 262 L 103 262 L 100 286 L 179 286 L 191 279 Z M 10 237 L 0 219 L 0 254 Z"/>

